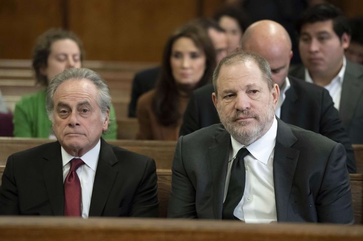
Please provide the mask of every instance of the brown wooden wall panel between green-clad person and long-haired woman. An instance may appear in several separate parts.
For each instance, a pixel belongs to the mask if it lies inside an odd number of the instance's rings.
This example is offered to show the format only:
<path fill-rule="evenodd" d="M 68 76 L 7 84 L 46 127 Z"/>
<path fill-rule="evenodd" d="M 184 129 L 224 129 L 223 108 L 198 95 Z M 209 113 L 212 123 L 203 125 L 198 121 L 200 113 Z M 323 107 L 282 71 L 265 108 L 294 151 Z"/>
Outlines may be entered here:
<path fill-rule="evenodd" d="M 197 2 L 79 0 L 69 5 L 69 25 L 88 59 L 160 61 L 168 35 L 196 17 Z"/>

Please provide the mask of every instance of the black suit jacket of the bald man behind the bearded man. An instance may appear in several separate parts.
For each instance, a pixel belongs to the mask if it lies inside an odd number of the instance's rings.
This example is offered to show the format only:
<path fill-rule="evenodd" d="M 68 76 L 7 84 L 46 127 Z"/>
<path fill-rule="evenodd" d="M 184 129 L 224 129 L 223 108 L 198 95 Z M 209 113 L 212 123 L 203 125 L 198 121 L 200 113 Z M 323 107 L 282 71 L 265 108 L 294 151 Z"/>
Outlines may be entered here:
<path fill-rule="evenodd" d="M 319 86 L 289 77 L 290 89 L 281 106 L 280 118 L 285 123 L 322 134 L 344 145 L 347 153 L 347 168 L 356 172 L 351 142 L 341 124 L 338 111 L 334 108 L 329 92 Z M 212 101 L 212 85 L 194 91 L 184 113 L 180 135 L 186 135 L 220 123 Z"/>

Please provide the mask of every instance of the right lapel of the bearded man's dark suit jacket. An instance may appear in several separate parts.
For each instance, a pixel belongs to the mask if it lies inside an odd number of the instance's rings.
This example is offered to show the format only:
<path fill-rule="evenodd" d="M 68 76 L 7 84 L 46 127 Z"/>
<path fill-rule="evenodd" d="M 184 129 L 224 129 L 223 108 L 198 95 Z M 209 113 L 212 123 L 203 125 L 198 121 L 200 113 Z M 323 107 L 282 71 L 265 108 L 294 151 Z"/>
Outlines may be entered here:
<path fill-rule="evenodd" d="M 291 148 L 297 141 L 287 124 L 277 119 L 277 136 L 273 161 L 273 176 L 277 221 L 286 221 L 287 204 L 299 156 L 299 151 Z"/>

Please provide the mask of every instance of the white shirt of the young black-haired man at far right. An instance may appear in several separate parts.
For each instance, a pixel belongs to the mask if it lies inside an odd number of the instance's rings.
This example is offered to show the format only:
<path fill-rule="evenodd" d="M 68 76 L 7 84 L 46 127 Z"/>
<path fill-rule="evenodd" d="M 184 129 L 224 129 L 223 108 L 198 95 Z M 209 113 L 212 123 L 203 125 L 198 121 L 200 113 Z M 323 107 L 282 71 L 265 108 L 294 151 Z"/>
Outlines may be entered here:
<path fill-rule="evenodd" d="M 325 89 L 329 91 L 330 96 L 333 99 L 334 107 L 339 110 L 340 108 L 340 97 L 341 97 L 341 89 L 344 81 L 344 73 L 346 68 L 346 59 L 345 56 L 343 57 L 343 66 L 340 69 L 337 76 L 326 86 Z M 308 69 L 305 69 L 305 81 L 309 83 L 314 83 L 313 79 L 311 78 Z"/>

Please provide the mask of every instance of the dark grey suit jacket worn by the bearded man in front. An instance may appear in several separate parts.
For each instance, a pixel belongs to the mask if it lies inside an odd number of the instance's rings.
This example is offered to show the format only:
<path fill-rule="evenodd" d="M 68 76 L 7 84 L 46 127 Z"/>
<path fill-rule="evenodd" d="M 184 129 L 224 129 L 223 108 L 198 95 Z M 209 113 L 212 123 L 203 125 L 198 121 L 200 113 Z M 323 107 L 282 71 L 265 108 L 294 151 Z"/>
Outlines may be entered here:
<path fill-rule="evenodd" d="M 277 122 L 273 160 L 277 221 L 353 222 L 343 146 Z M 168 217 L 222 218 L 230 145 L 230 135 L 221 124 L 179 138 Z"/>

